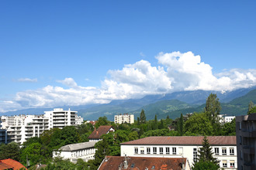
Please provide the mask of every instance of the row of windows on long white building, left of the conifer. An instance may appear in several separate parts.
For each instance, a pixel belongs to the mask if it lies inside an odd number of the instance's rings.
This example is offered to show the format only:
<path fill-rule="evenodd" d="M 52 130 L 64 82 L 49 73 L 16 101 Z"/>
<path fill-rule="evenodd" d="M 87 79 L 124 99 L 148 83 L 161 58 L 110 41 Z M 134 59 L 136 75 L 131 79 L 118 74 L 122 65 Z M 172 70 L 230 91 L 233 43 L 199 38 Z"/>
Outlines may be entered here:
<path fill-rule="evenodd" d="M 176 155 L 177 154 L 177 148 L 172 148 L 171 149 L 171 153 L 172 155 Z M 134 153 L 135 154 L 139 154 L 139 148 L 134 148 Z M 140 154 L 145 154 L 145 151 L 144 151 L 144 147 L 140 147 Z M 151 154 L 151 148 L 150 147 L 147 147 L 147 154 Z M 157 147 L 153 147 L 153 154 L 157 154 Z M 159 148 L 159 154 L 164 154 L 164 148 L 163 147 L 160 147 Z M 170 154 L 170 148 L 165 148 L 165 154 L 166 155 L 169 155 Z"/>

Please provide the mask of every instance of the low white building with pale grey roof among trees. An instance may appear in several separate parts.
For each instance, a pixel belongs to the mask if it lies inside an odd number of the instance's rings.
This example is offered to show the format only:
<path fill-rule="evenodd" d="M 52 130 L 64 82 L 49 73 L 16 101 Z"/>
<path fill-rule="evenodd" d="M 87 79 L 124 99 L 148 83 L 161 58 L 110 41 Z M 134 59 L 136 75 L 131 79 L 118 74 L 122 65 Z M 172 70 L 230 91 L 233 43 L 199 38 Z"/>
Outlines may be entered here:
<path fill-rule="evenodd" d="M 95 143 L 96 141 L 88 141 L 78 144 L 65 145 L 58 151 L 53 151 L 53 157 L 62 157 L 69 159 L 71 162 L 76 163 L 78 158 L 88 162 L 88 160 L 94 159 L 95 155 Z"/>

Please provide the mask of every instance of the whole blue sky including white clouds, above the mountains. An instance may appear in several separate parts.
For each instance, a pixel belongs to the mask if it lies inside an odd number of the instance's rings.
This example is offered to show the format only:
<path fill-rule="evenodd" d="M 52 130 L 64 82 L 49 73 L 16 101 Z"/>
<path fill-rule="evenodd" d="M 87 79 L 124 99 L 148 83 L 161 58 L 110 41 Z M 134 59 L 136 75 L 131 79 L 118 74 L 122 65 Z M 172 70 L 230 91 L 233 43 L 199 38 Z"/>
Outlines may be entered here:
<path fill-rule="evenodd" d="M 0 1 L 0 112 L 256 85 L 256 2 Z"/>

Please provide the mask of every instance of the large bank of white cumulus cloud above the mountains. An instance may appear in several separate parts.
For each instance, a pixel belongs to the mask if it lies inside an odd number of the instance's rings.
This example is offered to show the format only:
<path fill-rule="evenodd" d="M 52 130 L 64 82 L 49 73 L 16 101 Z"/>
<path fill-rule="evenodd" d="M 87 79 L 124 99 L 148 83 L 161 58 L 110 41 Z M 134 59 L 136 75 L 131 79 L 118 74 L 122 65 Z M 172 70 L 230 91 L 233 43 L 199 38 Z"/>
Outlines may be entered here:
<path fill-rule="evenodd" d="M 188 53 L 159 53 L 158 66 L 140 60 L 109 70 L 101 87 L 81 87 L 71 77 L 57 80 L 64 87 L 47 86 L 16 93 L 12 101 L 0 102 L 2 110 L 61 105 L 106 104 L 111 100 L 143 97 L 147 94 L 178 90 L 235 90 L 256 85 L 256 70 L 224 70 L 213 74 L 213 67 L 201 57 Z"/>

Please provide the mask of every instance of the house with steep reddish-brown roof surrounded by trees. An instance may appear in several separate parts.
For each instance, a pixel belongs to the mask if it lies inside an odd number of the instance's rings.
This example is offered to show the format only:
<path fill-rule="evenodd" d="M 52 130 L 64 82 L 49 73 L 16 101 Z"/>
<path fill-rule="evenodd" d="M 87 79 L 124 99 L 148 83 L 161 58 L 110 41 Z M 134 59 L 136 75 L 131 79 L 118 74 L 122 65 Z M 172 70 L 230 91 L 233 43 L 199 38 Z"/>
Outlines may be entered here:
<path fill-rule="evenodd" d="M 108 134 L 111 131 L 115 131 L 112 126 L 100 126 L 97 130 L 92 131 L 92 134 L 88 137 L 89 141 L 101 141 L 102 134 Z"/>

